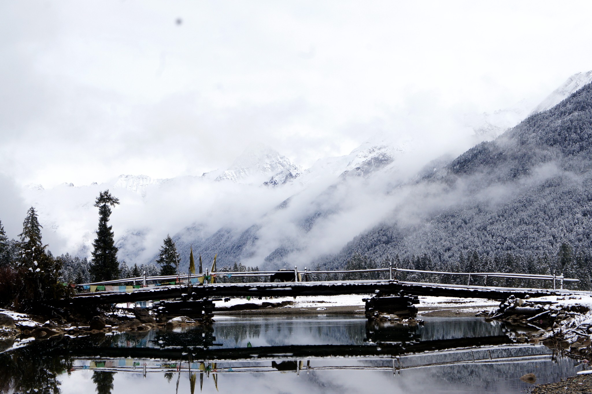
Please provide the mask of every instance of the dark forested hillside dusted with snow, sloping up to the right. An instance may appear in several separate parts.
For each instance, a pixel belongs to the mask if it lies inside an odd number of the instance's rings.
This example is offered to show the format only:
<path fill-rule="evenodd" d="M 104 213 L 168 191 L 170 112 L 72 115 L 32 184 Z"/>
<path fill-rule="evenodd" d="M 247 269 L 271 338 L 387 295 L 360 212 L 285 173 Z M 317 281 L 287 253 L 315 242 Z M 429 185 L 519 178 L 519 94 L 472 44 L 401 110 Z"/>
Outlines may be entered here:
<path fill-rule="evenodd" d="M 538 261 L 557 256 L 563 243 L 587 256 L 591 143 L 589 84 L 496 140 L 399 186 L 392 193 L 405 197 L 385 212 L 382 224 L 317 263 L 342 267 L 353 254 L 376 261 L 426 256 L 438 267 L 458 269 L 461 255 L 476 252 L 491 261 L 489 270 L 500 270 L 507 253 Z"/>

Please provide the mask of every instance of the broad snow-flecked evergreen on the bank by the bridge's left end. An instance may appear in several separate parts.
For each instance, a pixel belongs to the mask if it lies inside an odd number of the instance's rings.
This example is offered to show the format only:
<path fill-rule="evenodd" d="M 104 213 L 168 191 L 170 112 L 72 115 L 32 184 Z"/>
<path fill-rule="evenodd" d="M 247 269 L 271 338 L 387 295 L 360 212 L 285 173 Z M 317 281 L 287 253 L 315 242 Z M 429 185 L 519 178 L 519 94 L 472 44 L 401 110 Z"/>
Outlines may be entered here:
<path fill-rule="evenodd" d="M 47 245 L 41 241 L 41 225 L 37 212 L 31 206 L 22 223 L 20 253 L 17 269 L 23 281 L 18 295 L 21 309 L 31 310 L 65 295 L 65 289 L 59 283 L 61 264 L 46 252 Z"/>

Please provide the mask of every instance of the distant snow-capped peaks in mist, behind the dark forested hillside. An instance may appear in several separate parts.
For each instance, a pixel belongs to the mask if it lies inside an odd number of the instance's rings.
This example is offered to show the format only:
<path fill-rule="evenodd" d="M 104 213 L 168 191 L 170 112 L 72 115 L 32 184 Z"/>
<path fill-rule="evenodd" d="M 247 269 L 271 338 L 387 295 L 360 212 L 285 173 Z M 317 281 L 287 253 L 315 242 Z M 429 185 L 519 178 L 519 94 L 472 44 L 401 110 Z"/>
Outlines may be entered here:
<path fill-rule="evenodd" d="M 538 106 L 523 101 L 472 117 L 475 143 L 496 138 L 524 120 L 532 108 L 544 111 L 588 79 L 592 72 L 570 77 Z M 100 190 L 110 189 L 121 202 L 112 214 L 118 257 L 128 264 L 152 261 L 170 234 L 182 256 L 192 245 L 194 253 L 218 253 L 220 264 L 293 266 L 336 253 L 384 220 L 403 198 L 404 186 L 424 176 L 427 163 L 439 158 L 429 170 L 446 170 L 453 157 L 426 153 L 425 145 L 421 137 L 374 135 L 349 154 L 319 159 L 306 170 L 273 148 L 256 145 L 229 168 L 202 175 L 121 175 L 101 185 L 50 189 L 31 185 L 24 195 L 43 213 L 42 224 L 53 234 L 51 245 L 63 240 L 62 250 L 53 250 L 57 254 L 89 253 L 96 230 L 94 199 Z M 424 206 L 418 204 L 407 208 L 420 212 Z"/>

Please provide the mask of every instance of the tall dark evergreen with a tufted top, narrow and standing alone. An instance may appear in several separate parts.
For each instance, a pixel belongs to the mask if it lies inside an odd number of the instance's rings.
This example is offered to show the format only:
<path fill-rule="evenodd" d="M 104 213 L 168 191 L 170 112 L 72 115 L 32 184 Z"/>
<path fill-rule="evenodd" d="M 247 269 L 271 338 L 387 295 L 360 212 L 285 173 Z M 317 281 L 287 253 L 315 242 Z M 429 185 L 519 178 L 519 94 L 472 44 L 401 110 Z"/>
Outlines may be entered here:
<path fill-rule="evenodd" d="M 112 226 L 109 224 L 111 207 L 119 204 L 119 199 L 109 193 L 109 190 L 100 192 L 96 198 L 95 206 L 99 208 L 99 228 L 96 231 L 96 239 L 92 243 L 91 275 L 92 280 L 114 280 L 119 278 L 119 263 L 117 261 L 117 247 L 113 240 Z"/>

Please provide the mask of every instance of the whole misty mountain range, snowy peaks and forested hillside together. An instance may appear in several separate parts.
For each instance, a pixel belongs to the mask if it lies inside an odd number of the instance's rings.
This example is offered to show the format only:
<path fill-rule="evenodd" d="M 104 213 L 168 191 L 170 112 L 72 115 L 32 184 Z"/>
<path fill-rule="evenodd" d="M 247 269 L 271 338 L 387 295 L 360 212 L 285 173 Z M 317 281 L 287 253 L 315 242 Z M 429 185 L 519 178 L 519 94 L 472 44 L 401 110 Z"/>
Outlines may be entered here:
<path fill-rule="evenodd" d="M 303 169 L 258 144 L 227 169 L 31 185 L 25 201 L 40 211 L 52 250 L 84 257 L 98 220 L 94 199 L 110 189 L 121 201 L 112 215 L 118 257 L 128 264 L 153 261 L 166 234 L 183 267 L 190 246 L 206 261 L 218 254 L 219 266 L 260 268 L 343 266 L 356 252 L 377 259 L 426 253 L 443 261 L 461 250 L 554 252 L 562 241 L 590 243 L 589 152 L 570 147 L 582 136 L 565 128 L 574 121 L 578 130 L 589 128 L 590 86 L 582 86 L 590 77 L 570 77 L 539 105 L 475 115 L 466 125 L 472 134 L 455 141 L 455 150 L 442 147 L 437 130 L 405 139 L 378 133 L 350 154 Z M 574 100 L 579 104 L 566 104 Z M 470 148 L 475 141 L 485 142 Z"/>

